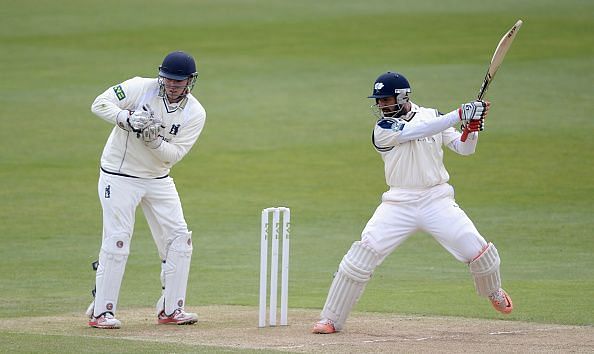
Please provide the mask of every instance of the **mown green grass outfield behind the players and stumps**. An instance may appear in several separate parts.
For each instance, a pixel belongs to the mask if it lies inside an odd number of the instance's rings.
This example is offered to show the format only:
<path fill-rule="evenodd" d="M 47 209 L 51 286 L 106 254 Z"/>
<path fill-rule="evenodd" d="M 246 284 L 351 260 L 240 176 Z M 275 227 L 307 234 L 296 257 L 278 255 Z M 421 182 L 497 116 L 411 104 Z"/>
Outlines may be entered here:
<path fill-rule="evenodd" d="M 386 190 L 370 141 L 373 80 L 400 71 L 413 101 L 453 110 L 476 96 L 497 42 L 521 18 L 487 94 L 477 153 L 446 152 L 446 167 L 458 203 L 499 249 L 515 305 L 506 319 L 593 325 L 593 14 L 585 0 L 3 5 L 0 322 L 80 313 L 85 326 L 101 239 L 98 160 L 112 128 L 90 104 L 115 83 L 155 76 L 177 49 L 197 59 L 194 94 L 208 114 L 171 173 L 194 232 L 187 303 L 256 311 L 260 211 L 286 205 L 290 306 L 320 309 Z M 120 309 L 152 307 L 160 294 L 159 258 L 137 216 Z M 427 234 L 378 268 L 356 310 L 503 318 Z M 47 340 L 0 331 L 0 351 L 40 351 Z M 51 341 L 54 352 L 81 347 Z"/>

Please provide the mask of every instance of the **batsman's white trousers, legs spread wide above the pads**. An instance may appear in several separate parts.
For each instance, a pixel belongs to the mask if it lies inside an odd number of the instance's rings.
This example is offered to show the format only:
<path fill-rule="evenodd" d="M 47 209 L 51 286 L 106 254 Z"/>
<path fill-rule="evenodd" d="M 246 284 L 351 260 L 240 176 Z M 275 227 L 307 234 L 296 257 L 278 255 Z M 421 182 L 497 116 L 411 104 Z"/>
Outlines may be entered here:
<path fill-rule="evenodd" d="M 424 190 L 391 189 L 368 221 L 361 241 L 382 260 L 416 231 L 431 234 L 461 262 L 470 263 L 487 246 L 454 200 L 454 188 L 441 184 Z"/>

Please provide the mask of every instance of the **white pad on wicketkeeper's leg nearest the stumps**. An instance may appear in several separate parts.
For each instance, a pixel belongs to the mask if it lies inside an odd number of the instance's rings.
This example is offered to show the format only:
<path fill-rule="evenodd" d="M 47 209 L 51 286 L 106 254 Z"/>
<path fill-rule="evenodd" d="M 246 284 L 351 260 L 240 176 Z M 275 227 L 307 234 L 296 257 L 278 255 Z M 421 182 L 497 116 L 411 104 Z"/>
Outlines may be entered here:
<path fill-rule="evenodd" d="M 163 295 L 157 301 L 157 314 L 164 310 L 166 315 L 171 315 L 175 310 L 184 308 L 192 250 L 192 232 L 171 242 L 167 258 L 161 265 Z"/>

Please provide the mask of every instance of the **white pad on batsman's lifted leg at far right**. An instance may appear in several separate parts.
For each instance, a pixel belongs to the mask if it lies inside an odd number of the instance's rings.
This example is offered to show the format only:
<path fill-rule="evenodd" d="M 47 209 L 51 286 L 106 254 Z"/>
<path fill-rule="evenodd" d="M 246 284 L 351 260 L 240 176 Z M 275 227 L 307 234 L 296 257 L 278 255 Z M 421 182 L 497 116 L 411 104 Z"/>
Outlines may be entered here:
<path fill-rule="evenodd" d="M 470 262 L 470 272 L 479 295 L 489 296 L 501 288 L 500 263 L 499 253 L 492 243 L 487 245 L 478 258 Z"/>

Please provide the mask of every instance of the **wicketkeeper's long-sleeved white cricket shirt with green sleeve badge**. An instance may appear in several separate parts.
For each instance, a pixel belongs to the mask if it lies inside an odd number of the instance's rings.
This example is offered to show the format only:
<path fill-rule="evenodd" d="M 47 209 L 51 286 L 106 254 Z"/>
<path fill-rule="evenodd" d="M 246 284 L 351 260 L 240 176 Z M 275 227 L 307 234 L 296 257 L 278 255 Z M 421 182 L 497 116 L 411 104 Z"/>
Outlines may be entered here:
<path fill-rule="evenodd" d="M 134 177 L 158 178 L 169 174 L 171 167 L 190 151 L 204 127 L 206 111 L 191 94 L 178 104 L 169 103 L 159 96 L 156 78 L 135 77 L 108 88 L 95 99 L 91 111 L 116 124 L 118 114 L 142 110 L 147 103 L 166 127 L 161 146 L 151 149 L 136 133 L 116 125 L 103 149 L 101 168 Z"/>

